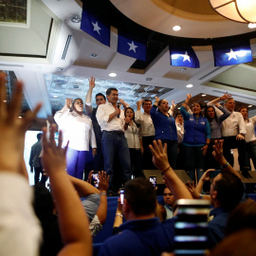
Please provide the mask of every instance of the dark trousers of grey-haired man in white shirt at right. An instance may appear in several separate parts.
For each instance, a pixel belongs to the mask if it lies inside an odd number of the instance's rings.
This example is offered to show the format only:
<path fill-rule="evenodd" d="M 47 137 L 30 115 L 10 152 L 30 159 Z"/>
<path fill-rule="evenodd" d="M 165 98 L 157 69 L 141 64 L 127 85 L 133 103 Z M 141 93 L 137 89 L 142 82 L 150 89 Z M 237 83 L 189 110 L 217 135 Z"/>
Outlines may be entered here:
<path fill-rule="evenodd" d="M 224 144 L 223 144 L 223 155 L 229 162 L 231 166 L 234 165 L 234 157 L 230 153 L 231 149 L 238 150 L 238 162 L 240 165 L 240 170 L 243 170 L 245 167 L 247 167 L 246 162 L 246 141 L 243 140 L 237 140 L 236 136 L 231 137 L 223 137 Z"/>

